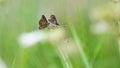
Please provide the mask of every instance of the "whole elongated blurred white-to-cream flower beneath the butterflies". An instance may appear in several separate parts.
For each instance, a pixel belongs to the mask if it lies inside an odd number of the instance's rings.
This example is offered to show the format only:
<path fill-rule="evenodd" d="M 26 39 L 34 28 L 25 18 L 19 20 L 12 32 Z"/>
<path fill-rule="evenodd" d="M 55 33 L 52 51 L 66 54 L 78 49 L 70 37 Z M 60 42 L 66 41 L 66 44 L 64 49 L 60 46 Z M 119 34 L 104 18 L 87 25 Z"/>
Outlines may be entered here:
<path fill-rule="evenodd" d="M 19 37 L 19 43 L 24 47 L 33 46 L 41 41 L 49 41 L 50 43 L 61 42 L 65 37 L 65 30 L 62 28 L 45 31 L 33 31 L 23 33 Z"/>

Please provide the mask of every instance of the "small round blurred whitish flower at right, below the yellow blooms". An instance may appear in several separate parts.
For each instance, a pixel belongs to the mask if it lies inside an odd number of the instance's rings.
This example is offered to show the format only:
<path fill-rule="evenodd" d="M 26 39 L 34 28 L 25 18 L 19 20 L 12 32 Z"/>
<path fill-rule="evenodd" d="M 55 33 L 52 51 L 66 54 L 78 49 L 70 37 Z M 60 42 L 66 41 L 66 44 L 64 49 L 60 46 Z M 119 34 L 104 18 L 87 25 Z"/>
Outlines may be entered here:
<path fill-rule="evenodd" d="M 100 21 L 100 22 L 94 23 L 91 26 L 91 31 L 94 34 L 103 34 L 103 33 L 107 32 L 107 30 L 108 30 L 108 24 L 105 21 Z"/>

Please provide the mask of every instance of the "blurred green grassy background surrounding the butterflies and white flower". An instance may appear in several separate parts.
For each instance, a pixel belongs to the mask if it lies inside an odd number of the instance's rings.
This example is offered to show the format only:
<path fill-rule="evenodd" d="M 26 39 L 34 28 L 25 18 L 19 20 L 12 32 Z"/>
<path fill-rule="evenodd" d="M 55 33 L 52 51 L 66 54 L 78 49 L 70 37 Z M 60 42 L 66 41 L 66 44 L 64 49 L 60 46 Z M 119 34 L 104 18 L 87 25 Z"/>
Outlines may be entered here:
<path fill-rule="evenodd" d="M 114 34 L 114 20 L 120 19 L 117 5 L 117 0 L 0 0 L 0 60 L 7 68 L 120 68 L 119 36 Z M 56 15 L 77 52 L 62 55 L 46 41 L 21 47 L 19 36 L 38 30 L 43 14 Z M 109 30 L 92 32 L 92 25 L 101 21 Z"/>

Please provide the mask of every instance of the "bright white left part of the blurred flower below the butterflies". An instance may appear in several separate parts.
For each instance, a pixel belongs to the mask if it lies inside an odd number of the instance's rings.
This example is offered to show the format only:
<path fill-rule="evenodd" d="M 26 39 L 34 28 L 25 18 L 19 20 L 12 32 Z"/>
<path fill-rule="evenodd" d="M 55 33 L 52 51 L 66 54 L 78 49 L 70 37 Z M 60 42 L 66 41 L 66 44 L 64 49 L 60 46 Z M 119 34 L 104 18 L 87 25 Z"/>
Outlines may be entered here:
<path fill-rule="evenodd" d="M 29 33 L 23 33 L 19 37 L 19 43 L 23 47 L 29 47 L 35 45 L 39 41 L 43 41 L 46 38 L 46 33 L 43 31 L 33 31 Z"/>

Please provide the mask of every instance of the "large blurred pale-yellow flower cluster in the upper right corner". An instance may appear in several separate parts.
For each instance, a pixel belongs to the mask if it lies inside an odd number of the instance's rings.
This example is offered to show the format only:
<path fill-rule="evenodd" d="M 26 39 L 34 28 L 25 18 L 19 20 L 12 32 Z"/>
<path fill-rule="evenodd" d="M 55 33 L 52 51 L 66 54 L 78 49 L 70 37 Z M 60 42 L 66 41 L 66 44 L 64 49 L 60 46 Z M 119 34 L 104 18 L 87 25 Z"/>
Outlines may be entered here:
<path fill-rule="evenodd" d="M 110 2 L 104 7 L 96 7 L 91 10 L 91 16 L 94 20 L 105 20 L 109 23 L 116 19 L 120 20 L 120 3 Z"/>

